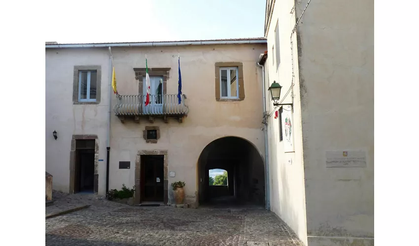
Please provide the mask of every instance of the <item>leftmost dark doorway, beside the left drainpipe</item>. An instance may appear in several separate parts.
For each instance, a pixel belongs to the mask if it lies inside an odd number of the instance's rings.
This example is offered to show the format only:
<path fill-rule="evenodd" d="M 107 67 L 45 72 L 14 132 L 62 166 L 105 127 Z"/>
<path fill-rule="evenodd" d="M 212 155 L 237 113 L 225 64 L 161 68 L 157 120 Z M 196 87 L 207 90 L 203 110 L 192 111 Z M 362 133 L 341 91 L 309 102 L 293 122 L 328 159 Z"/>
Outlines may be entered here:
<path fill-rule="evenodd" d="M 74 193 L 94 193 L 95 140 L 76 140 Z"/>

